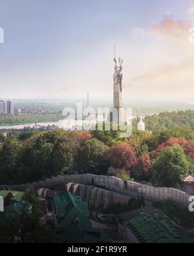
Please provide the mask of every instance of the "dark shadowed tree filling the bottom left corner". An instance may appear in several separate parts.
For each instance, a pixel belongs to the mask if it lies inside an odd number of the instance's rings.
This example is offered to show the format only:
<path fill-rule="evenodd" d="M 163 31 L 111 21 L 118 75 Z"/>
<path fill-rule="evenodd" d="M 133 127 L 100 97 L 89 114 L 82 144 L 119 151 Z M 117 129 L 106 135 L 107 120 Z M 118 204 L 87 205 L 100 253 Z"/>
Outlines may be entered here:
<path fill-rule="evenodd" d="M 54 229 L 49 229 L 40 222 L 42 216 L 37 194 L 32 189 L 24 195 L 26 200 L 32 200 L 32 211 L 28 204 L 24 204 L 21 215 L 16 216 L 11 207 L 6 207 L 4 213 L 0 213 L 0 243 L 51 243 L 58 242 Z"/>

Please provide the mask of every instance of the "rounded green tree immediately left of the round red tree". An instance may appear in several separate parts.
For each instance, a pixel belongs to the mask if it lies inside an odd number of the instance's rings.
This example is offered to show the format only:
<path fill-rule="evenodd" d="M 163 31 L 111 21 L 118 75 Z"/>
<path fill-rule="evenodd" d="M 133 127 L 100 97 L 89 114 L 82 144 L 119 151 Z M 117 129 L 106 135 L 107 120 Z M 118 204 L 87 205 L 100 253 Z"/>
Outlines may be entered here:
<path fill-rule="evenodd" d="M 105 174 L 108 169 L 106 152 L 107 146 L 98 139 L 85 141 L 79 152 L 80 172 Z"/>

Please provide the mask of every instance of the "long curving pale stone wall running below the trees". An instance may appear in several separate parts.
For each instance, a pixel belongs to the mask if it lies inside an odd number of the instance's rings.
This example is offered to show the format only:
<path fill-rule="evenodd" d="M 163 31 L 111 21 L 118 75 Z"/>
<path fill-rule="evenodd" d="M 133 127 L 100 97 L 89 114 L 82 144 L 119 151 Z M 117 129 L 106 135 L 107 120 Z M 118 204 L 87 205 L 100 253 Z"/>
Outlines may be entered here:
<path fill-rule="evenodd" d="M 112 176 L 97 176 L 94 174 L 75 174 L 75 175 L 65 175 L 65 176 L 57 176 L 46 179 L 44 181 L 27 183 L 21 185 L 8 186 L 11 189 L 16 190 L 25 190 L 28 187 L 45 187 L 48 189 L 65 189 L 65 185 L 67 183 L 79 183 L 79 184 L 87 184 L 94 187 L 101 187 L 106 190 L 118 192 L 120 194 L 125 194 L 128 196 L 144 196 L 144 199 L 149 202 L 158 202 L 163 200 L 173 200 L 179 204 L 182 204 L 186 207 L 189 205 L 189 194 L 186 192 L 178 191 L 177 189 L 167 188 L 167 187 L 154 187 L 149 185 L 144 185 L 141 183 L 136 183 L 133 181 L 124 181 L 120 178 L 112 177 Z M 87 189 L 92 189 L 89 187 Z M 86 194 L 84 188 L 82 188 L 81 192 L 82 196 Z M 91 196 L 91 195 L 88 195 Z M 92 198 L 98 197 L 97 194 L 93 194 Z"/>

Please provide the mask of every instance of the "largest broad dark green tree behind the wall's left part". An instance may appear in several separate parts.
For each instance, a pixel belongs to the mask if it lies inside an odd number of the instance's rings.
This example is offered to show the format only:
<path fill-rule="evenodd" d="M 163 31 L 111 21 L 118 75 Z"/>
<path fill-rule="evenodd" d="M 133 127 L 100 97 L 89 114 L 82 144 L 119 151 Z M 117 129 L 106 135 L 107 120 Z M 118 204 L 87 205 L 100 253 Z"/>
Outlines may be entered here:
<path fill-rule="evenodd" d="M 74 173 L 79 142 L 74 132 L 39 132 L 25 141 L 17 161 L 18 182 Z"/>

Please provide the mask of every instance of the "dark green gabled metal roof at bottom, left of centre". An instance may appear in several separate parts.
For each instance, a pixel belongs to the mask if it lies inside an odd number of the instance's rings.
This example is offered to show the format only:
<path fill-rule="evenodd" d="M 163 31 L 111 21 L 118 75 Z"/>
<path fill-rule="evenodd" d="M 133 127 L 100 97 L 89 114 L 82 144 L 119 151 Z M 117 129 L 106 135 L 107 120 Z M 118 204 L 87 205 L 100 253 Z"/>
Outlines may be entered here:
<path fill-rule="evenodd" d="M 80 196 L 64 191 L 52 198 L 58 219 L 58 233 L 63 242 L 109 242 L 100 229 L 92 227 L 89 207 Z"/>

